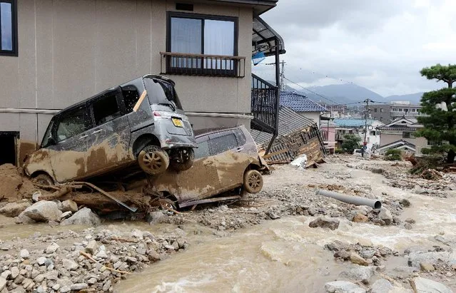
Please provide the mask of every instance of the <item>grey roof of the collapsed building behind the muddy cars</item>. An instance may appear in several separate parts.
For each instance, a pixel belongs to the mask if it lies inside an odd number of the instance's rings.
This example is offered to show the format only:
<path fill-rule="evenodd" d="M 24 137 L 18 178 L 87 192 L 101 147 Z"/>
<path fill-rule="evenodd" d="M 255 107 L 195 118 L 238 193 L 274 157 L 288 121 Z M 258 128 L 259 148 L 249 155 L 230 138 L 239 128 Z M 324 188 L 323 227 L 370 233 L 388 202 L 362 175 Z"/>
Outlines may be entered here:
<path fill-rule="evenodd" d="M 303 117 L 290 108 L 280 106 L 278 135 L 287 135 L 313 124 L 315 124 L 313 120 Z M 250 134 L 257 144 L 268 143 L 273 138 L 272 134 L 258 130 L 251 130 Z"/>

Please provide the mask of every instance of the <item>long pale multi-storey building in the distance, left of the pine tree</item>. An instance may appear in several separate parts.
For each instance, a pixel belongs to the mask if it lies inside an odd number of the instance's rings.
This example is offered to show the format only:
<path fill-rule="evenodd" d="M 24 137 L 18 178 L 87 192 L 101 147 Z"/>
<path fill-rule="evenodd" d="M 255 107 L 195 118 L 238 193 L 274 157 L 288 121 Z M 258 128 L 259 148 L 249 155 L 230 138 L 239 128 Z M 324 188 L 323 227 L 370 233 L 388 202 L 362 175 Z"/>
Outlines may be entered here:
<path fill-rule="evenodd" d="M 369 106 L 370 116 L 383 123 L 390 123 L 402 116 L 416 118 L 420 115 L 421 106 L 410 101 L 392 101 L 389 104 L 373 104 Z"/>

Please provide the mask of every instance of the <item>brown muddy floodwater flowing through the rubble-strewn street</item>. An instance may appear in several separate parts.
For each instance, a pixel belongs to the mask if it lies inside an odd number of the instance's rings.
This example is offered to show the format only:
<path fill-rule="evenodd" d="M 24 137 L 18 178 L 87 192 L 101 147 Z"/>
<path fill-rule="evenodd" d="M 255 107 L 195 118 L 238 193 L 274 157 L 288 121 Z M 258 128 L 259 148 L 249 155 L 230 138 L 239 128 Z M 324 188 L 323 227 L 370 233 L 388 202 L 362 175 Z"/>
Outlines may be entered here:
<path fill-rule="evenodd" d="M 345 159 L 348 160 L 348 159 Z M 408 255 L 404 253 L 410 247 L 439 247 L 440 250 L 456 250 L 456 196 L 455 183 L 444 184 L 452 187 L 445 190 L 432 190 L 431 185 L 440 183 L 421 179 L 400 178 L 402 170 L 395 169 L 397 176 L 385 178 L 385 175 L 364 170 L 366 165 L 375 164 L 375 168 L 392 170 L 391 163 L 369 162 L 350 158 L 345 161 L 333 160 L 320 165 L 318 169 L 296 170 L 290 166 L 278 167 L 272 175 L 265 176 L 263 193 L 257 195 L 263 202 L 268 197 L 282 192 L 283 195 L 310 196 L 315 194 L 313 186 L 337 185 L 354 189 L 365 189 L 367 197 L 378 198 L 388 208 L 402 199 L 410 201 L 410 207 L 398 207 L 395 212 L 395 225 L 374 225 L 373 222 L 353 222 L 344 217 L 346 209 L 336 200 L 319 205 L 317 215 L 290 215 L 280 207 L 285 200 L 278 197 L 268 205 L 274 207 L 280 215 L 276 220 L 261 220 L 258 225 L 245 225 L 235 229 L 221 229 L 220 226 L 202 225 L 202 218 L 211 215 L 208 222 L 233 222 L 247 219 L 252 210 L 230 205 L 223 211 L 219 207 L 199 207 L 194 212 L 183 212 L 179 223 L 148 225 L 146 222 L 104 222 L 103 227 L 124 232 L 133 229 L 146 230 L 153 235 L 166 235 L 179 227 L 185 232 L 188 247 L 173 252 L 158 262 L 154 262 L 141 272 L 129 274 L 113 286 L 114 292 L 325 292 L 325 283 L 335 280 L 347 280 L 341 277 L 355 267 L 350 261 L 335 259 L 334 252 L 325 248 L 335 240 L 347 244 L 369 243 L 373 247 L 388 247 L 395 252 L 382 259 L 382 265 L 375 267 L 375 274 L 370 284 L 385 276 L 393 276 L 397 267 L 407 267 Z M 406 165 L 407 163 L 402 163 Z M 398 185 L 399 180 L 403 186 Z M 402 184 L 402 183 L 401 183 Z M 408 185 L 407 185 L 408 184 Z M 417 191 L 417 186 L 428 192 Z M 427 186 L 429 185 L 429 186 Z M 408 187 L 407 187 L 408 186 Z M 300 193 L 303 190 L 302 193 Z M 419 194 L 420 193 L 420 194 Z M 266 200 L 265 200 L 266 197 Z M 326 200 L 326 199 L 325 199 Z M 308 202 L 317 206 L 319 199 Z M 340 207 L 343 207 L 340 210 Z M 335 213 L 337 211 L 338 213 Z M 230 215 L 228 217 L 228 215 Z M 318 215 L 337 218 L 338 229 L 310 228 L 309 222 Z M 407 219 L 414 220 L 411 227 L 405 228 Z M 68 227 L 50 227 L 41 225 L 15 225 L 9 218 L 0 217 L 3 227 L 0 239 L 28 237 L 35 232 L 55 234 Z M 226 225 L 227 227 L 229 224 Z M 216 228 L 214 228 L 216 227 Z M 217 228 L 218 227 L 218 228 Z M 82 231 L 84 227 L 73 226 L 71 230 Z M 437 241 L 436 239 L 440 239 Z M 441 240 L 444 239 L 444 240 Z M 445 242 L 445 244 L 442 243 Z M 437 267 L 436 267 L 437 268 Z M 435 272 L 420 272 L 417 277 L 433 279 L 456 290 L 456 270 L 436 269 Z M 410 276 L 408 276 L 410 277 Z M 406 277 L 391 277 L 395 286 L 410 289 Z M 354 282 L 354 281 L 351 281 Z M 368 289 L 370 284 L 361 284 Z M 455 291 L 456 292 L 456 291 Z"/>

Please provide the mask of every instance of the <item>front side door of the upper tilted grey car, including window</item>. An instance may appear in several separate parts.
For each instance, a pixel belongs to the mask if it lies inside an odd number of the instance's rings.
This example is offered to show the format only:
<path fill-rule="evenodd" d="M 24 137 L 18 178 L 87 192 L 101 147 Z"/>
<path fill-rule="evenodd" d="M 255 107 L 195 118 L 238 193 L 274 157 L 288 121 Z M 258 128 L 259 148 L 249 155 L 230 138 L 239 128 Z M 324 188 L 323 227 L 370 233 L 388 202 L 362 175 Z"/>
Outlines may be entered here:
<path fill-rule="evenodd" d="M 59 114 L 53 127 L 54 142 L 47 148 L 56 180 L 64 183 L 84 177 L 92 127 L 86 104 Z"/>

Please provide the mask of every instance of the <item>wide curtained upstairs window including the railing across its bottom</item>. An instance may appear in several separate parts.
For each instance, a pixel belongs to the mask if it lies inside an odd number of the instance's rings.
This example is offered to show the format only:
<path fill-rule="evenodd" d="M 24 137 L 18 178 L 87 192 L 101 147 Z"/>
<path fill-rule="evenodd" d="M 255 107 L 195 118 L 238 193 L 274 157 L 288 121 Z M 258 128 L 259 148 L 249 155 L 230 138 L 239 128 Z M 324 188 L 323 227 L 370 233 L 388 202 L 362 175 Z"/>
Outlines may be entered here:
<path fill-rule="evenodd" d="M 237 27 L 235 17 L 169 13 L 162 73 L 243 77 L 245 58 L 237 56 Z"/>

